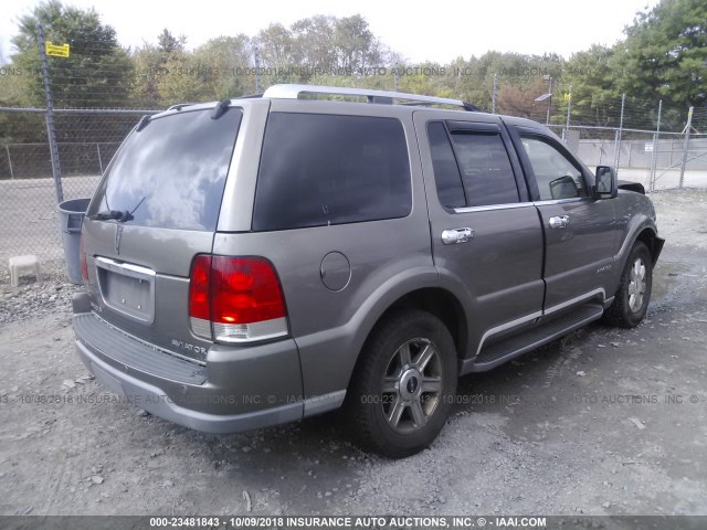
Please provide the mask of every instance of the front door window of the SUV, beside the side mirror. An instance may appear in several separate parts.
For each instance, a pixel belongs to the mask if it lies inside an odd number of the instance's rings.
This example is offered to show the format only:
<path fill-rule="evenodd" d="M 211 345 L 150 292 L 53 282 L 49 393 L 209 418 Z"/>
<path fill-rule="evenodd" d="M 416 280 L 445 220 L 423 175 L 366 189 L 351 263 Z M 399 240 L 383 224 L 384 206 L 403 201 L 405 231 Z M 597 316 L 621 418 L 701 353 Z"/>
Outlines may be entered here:
<path fill-rule="evenodd" d="M 582 172 L 562 152 L 537 136 L 520 135 L 520 139 L 530 159 L 541 201 L 588 195 Z"/>

